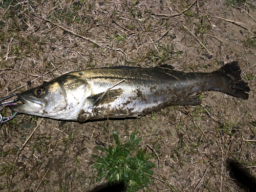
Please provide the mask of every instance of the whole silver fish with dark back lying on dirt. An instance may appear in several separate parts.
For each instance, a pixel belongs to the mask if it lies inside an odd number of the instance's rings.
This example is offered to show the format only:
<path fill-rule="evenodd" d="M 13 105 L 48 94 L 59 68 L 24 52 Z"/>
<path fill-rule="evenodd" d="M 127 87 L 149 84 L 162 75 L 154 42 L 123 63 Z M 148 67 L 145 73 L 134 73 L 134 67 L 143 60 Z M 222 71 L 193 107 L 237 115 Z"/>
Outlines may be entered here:
<path fill-rule="evenodd" d="M 248 99 L 238 61 L 210 73 L 185 73 L 171 66 L 110 67 L 63 74 L 17 97 L 17 113 L 66 121 L 140 117 L 169 105 L 201 104 L 200 94 L 216 90 Z"/>

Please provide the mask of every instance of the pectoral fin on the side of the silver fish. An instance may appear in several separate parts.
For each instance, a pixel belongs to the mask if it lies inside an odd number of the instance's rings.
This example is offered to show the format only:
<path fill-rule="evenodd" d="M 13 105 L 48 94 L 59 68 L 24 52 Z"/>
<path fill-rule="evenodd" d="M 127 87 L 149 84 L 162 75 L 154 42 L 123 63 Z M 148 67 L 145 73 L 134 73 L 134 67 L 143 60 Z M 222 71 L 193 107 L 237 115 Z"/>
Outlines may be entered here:
<path fill-rule="evenodd" d="M 123 93 L 122 89 L 109 90 L 107 92 L 102 92 L 95 94 L 88 99 L 93 103 L 94 106 L 107 104 L 114 102 L 121 94 Z"/>

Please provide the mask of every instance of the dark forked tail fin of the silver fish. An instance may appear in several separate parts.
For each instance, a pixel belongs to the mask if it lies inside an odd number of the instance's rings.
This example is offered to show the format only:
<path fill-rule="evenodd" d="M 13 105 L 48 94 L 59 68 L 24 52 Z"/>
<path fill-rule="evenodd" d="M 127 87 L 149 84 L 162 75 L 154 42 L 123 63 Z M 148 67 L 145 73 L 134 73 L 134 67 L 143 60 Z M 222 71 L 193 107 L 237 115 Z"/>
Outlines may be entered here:
<path fill-rule="evenodd" d="M 248 86 L 248 83 L 243 81 L 241 78 L 241 69 L 238 65 L 238 61 L 229 62 L 214 73 L 222 77 L 223 80 L 222 86 L 217 90 L 234 97 L 242 99 L 249 98 L 249 94 L 245 92 L 249 92 L 250 87 Z"/>

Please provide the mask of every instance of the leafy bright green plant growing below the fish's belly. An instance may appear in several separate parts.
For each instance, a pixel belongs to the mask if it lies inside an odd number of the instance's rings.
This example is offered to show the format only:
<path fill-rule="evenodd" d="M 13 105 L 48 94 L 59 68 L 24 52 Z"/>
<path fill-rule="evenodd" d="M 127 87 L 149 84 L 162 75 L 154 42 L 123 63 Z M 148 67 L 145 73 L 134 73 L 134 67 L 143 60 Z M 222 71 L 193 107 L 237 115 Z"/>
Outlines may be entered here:
<path fill-rule="evenodd" d="M 131 134 L 129 141 L 122 144 L 116 131 L 113 132 L 115 146 L 109 148 L 97 147 L 104 155 L 96 156 L 93 168 L 98 171 L 97 180 L 103 177 L 109 184 L 124 183 L 127 191 L 137 191 L 146 187 L 148 183 L 153 184 L 150 176 L 153 175 L 151 168 L 155 164 L 148 162 L 144 150 L 140 150 L 141 138 L 135 139 L 135 133 Z"/>

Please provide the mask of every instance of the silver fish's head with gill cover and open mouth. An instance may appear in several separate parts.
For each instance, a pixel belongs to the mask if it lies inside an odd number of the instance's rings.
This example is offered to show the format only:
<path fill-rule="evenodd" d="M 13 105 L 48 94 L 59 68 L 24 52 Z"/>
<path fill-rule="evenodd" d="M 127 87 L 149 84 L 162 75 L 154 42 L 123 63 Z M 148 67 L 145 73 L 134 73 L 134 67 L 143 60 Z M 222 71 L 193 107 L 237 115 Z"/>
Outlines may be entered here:
<path fill-rule="evenodd" d="M 76 120 L 75 116 L 83 102 L 88 84 L 72 76 L 60 76 L 39 87 L 17 94 L 23 104 L 10 106 L 12 111 L 50 117 L 53 119 Z"/>

